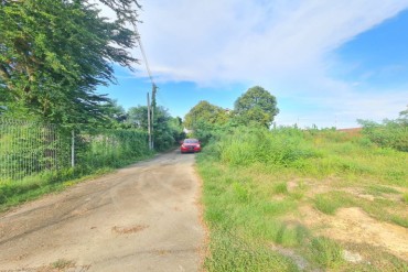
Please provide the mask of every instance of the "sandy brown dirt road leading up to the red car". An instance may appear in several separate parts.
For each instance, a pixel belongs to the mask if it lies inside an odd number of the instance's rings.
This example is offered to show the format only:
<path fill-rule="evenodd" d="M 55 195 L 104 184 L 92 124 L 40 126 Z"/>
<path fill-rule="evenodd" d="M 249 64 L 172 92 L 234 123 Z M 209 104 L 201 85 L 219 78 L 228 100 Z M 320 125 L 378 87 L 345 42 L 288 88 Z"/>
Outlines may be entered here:
<path fill-rule="evenodd" d="M 197 271 L 193 164 L 174 151 L 0 215 L 0 271 Z"/>

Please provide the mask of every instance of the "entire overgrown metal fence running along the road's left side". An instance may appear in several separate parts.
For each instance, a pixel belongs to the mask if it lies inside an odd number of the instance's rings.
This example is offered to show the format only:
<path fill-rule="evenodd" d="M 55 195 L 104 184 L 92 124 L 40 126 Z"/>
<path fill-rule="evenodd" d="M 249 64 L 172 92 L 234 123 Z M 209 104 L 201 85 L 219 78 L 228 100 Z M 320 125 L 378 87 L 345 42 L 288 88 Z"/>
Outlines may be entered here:
<path fill-rule="evenodd" d="M 55 124 L 0 119 L 0 182 L 45 171 L 119 166 L 149 153 L 143 131 L 63 129 Z"/>

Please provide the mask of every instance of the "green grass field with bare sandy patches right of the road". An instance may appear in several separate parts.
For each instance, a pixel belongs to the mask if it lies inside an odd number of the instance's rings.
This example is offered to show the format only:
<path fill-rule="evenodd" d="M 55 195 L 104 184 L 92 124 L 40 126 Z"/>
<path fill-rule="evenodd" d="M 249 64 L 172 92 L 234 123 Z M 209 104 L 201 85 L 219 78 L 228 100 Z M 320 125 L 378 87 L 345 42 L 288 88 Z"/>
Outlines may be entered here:
<path fill-rule="evenodd" d="M 408 153 L 356 133 L 239 129 L 197 157 L 207 271 L 407 271 Z"/>

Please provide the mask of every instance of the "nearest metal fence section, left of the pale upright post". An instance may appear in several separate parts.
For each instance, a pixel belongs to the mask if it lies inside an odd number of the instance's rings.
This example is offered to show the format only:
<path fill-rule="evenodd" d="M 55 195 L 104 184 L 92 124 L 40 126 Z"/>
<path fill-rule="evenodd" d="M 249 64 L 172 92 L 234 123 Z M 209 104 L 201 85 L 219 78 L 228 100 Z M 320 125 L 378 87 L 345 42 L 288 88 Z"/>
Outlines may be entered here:
<path fill-rule="evenodd" d="M 53 124 L 0 120 L 0 179 L 66 167 L 66 138 Z"/>

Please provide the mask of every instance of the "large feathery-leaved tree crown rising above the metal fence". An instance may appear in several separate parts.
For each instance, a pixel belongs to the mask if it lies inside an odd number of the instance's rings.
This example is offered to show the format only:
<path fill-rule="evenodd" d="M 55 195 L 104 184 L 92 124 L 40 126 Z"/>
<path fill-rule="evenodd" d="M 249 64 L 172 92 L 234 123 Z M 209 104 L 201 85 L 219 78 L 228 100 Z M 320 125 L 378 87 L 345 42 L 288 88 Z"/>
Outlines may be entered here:
<path fill-rule="evenodd" d="M 117 13 L 99 15 L 84 0 L 0 1 L 0 106 L 6 115 L 52 122 L 103 119 L 109 99 L 96 94 L 115 83 L 112 64 L 131 67 L 135 0 L 100 0 Z M 6 107 L 4 107 L 6 106 Z"/>

